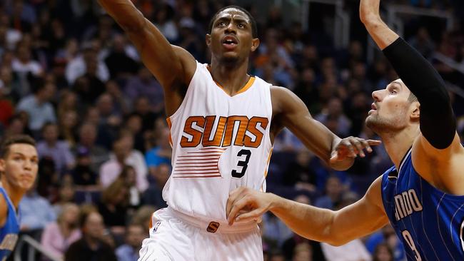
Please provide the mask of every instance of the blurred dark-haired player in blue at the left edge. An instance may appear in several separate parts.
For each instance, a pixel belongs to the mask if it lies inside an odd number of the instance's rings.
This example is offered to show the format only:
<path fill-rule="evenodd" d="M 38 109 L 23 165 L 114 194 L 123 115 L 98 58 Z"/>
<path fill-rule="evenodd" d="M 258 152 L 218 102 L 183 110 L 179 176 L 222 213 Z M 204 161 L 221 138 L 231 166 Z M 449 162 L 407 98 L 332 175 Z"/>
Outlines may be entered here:
<path fill-rule="evenodd" d="M 28 135 L 5 138 L 0 146 L 0 260 L 14 249 L 19 233 L 19 201 L 32 188 L 39 168 L 36 142 Z"/>

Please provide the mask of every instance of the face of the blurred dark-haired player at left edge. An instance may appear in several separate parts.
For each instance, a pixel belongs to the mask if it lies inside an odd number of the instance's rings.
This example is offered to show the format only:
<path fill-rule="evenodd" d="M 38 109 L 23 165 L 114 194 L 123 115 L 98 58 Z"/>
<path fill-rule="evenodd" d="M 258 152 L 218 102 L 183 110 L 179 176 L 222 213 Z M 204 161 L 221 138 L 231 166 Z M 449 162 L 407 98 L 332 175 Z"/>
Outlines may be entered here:
<path fill-rule="evenodd" d="M 1 180 L 24 192 L 34 185 L 38 169 L 39 157 L 33 145 L 10 145 L 8 154 L 0 159 Z"/>

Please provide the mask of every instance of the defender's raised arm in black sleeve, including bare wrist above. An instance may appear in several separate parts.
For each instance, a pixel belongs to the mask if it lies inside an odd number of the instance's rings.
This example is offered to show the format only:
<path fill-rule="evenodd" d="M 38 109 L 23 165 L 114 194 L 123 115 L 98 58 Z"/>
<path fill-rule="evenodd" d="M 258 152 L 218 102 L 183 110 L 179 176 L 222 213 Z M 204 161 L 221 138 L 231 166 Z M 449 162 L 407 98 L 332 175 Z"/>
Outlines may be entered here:
<path fill-rule="evenodd" d="M 366 4 L 363 6 L 363 2 Z M 420 103 L 420 130 L 435 148 L 447 148 L 456 124 L 445 83 L 433 66 L 380 19 L 378 6 L 361 1 L 360 19 L 401 80 Z"/>

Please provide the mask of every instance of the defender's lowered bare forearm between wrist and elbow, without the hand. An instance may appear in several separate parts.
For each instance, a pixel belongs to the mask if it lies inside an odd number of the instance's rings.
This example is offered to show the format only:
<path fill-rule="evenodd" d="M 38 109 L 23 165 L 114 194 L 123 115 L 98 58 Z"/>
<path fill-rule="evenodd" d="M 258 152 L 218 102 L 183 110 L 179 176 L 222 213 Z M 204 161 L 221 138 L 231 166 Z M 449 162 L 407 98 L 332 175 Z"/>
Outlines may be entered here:
<path fill-rule="evenodd" d="M 331 235 L 331 224 L 335 212 L 269 194 L 272 197 L 271 212 L 280 218 L 293 232 L 302 237 L 319 242 L 340 245 L 335 235 Z"/>

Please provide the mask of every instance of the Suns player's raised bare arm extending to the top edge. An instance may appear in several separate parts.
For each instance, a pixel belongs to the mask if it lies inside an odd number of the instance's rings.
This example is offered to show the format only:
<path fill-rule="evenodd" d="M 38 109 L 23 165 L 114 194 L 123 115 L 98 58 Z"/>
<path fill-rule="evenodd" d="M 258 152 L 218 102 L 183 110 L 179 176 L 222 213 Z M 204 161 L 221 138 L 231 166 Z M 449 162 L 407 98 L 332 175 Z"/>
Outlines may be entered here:
<path fill-rule="evenodd" d="M 130 0 L 98 0 L 136 46 L 145 66 L 161 83 L 165 92 L 166 113 L 173 114 L 182 102 L 181 88 L 187 88 L 196 62 L 183 48 L 168 40 L 143 17 Z"/>

